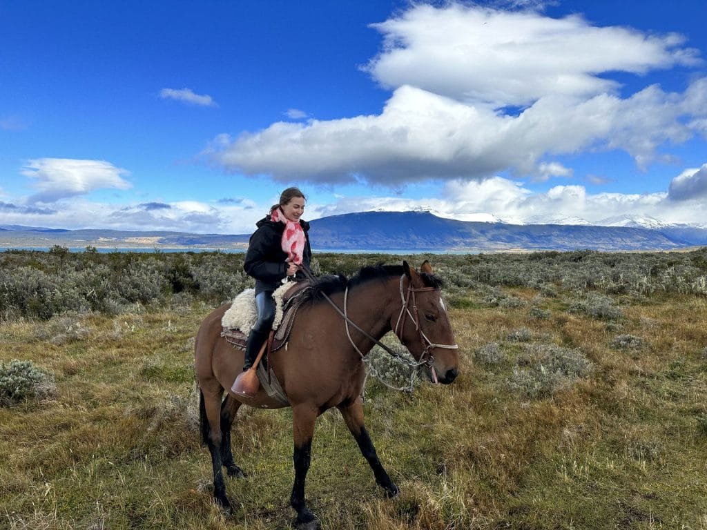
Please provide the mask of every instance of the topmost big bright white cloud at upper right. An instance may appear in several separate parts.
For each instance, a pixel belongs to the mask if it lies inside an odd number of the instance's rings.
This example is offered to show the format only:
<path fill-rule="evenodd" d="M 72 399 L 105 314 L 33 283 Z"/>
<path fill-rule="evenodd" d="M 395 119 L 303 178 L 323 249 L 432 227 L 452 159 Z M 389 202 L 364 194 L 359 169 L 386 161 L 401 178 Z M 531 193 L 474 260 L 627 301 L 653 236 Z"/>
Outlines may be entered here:
<path fill-rule="evenodd" d="M 530 105 L 547 95 L 590 97 L 617 88 L 600 73 L 698 61 L 695 50 L 680 47 L 679 35 L 643 35 L 531 11 L 421 5 L 373 28 L 385 45 L 366 69 L 384 86 L 412 85 L 493 107 Z"/>

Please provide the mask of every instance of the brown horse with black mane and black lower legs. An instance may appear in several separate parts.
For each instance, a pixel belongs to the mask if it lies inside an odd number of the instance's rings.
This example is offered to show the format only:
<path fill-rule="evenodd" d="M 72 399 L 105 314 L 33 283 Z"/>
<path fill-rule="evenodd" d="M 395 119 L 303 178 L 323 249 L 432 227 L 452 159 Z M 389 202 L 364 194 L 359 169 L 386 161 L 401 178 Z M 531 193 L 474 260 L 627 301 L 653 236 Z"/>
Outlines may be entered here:
<path fill-rule="evenodd" d="M 433 381 L 454 381 L 459 358 L 440 285 L 427 261 L 419 273 L 404 261 L 402 266 L 364 267 L 350 280 L 323 278 L 310 287 L 308 301 L 300 306 L 287 348 L 268 359 L 292 407 L 295 481 L 290 503 L 297 512 L 298 529 L 319 528 L 305 502 L 305 476 L 315 420 L 329 408 L 341 411 L 378 485 L 389 497 L 397 495 L 397 485 L 383 469 L 363 424 L 361 391 L 366 373 L 362 361 L 373 348 L 373 339 L 395 331 Z M 214 497 L 230 511 L 221 468 L 229 476 L 243 476 L 230 447 L 235 414 L 242 404 L 282 405 L 262 389 L 250 399 L 229 393 L 221 402 L 224 389 L 230 389 L 243 367 L 243 354 L 221 337 L 221 317 L 228 307 L 219 307 L 201 324 L 195 366 L 201 434 L 214 470 Z"/>

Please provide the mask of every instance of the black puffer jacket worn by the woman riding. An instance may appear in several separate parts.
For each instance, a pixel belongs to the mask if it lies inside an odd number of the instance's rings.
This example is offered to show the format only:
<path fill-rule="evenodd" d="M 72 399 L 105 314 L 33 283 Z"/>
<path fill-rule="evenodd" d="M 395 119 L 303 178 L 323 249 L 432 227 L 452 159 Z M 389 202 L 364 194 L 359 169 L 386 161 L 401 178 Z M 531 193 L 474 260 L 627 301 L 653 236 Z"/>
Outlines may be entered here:
<path fill-rule="evenodd" d="M 248 251 L 245 253 L 243 269 L 255 278 L 255 294 L 262 291 L 274 291 L 281 285 L 282 278 L 287 273 L 286 252 L 282 249 L 282 232 L 284 223 L 270 219 L 266 216 L 255 223 L 257 230 L 250 236 Z M 300 220 L 300 225 L 305 231 L 305 251 L 302 263 L 310 266 L 312 249 L 309 244 L 309 223 Z M 301 273 L 298 273 L 300 276 Z"/>

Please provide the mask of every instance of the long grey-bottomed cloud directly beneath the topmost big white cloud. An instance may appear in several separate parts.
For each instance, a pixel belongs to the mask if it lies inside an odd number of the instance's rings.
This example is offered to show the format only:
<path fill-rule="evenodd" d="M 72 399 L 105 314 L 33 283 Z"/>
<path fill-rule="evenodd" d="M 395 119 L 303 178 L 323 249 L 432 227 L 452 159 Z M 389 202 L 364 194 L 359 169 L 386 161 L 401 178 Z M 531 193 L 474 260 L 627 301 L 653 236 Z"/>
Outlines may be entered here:
<path fill-rule="evenodd" d="M 707 92 L 700 95 L 705 100 L 699 115 L 707 117 Z M 210 154 L 229 170 L 269 174 L 280 182 L 365 179 L 399 187 L 426 179 L 478 179 L 508 169 L 519 176 L 568 176 L 569 170 L 544 157 L 621 148 L 645 165 L 661 143 L 689 138 L 684 98 L 658 87 L 627 100 L 607 94 L 588 100 L 547 96 L 510 117 L 403 86 L 380 115 L 278 122 L 235 140 L 221 136 Z"/>

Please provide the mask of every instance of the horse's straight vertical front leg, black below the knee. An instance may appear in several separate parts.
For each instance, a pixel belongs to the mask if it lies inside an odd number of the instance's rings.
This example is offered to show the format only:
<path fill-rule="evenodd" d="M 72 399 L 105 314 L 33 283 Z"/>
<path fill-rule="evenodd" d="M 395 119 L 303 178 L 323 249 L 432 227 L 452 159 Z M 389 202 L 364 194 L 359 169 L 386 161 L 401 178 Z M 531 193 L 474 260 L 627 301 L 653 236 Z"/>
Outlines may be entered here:
<path fill-rule="evenodd" d="M 295 465 L 295 483 L 292 486 L 290 505 L 297 512 L 295 525 L 298 530 L 315 530 L 320 528 L 305 501 L 305 479 L 312 460 L 312 435 L 317 420 L 317 409 L 308 405 L 292 408 L 292 435 L 295 443 L 293 461 Z"/>

